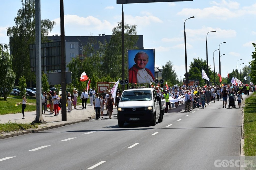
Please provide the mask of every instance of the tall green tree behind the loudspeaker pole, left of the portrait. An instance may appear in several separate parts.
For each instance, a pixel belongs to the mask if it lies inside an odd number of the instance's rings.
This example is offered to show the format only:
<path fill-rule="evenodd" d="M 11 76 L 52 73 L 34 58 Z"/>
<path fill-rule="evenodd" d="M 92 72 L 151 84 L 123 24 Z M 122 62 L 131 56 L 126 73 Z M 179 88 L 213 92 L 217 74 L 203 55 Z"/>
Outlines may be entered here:
<path fill-rule="evenodd" d="M 136 25 L 124 24 L 124 49 L 134 49 L 138 41 Z M 103 57 L 102 70 L 110 77 L 122 76 L 122 23 L 112 30 L 112 36 Z M 124 70 L 127 70 L 127 53 L 124 56 Z M 127 72 L 125 72 L 127 77 Z"/>

